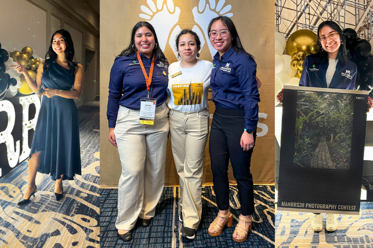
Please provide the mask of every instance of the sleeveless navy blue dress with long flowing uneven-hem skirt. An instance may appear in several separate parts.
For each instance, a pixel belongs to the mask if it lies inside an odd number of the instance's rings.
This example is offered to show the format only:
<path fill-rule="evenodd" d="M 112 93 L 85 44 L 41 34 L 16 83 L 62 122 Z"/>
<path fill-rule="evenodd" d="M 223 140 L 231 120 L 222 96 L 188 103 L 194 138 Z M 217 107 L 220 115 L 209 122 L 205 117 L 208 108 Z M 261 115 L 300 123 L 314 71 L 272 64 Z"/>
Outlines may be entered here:
<path fill-rule="evenodd" d="M 61 90 L 70 90 L 74 80 L 75 76 L 56 62 L 43 71 L 41 79 L 43 87 Z M 74 99 L 42 96 L 29 157 L 39 151 L 40 173 L 50 174 L 53 180 L 60 179 L 62 174 L 64 180 L 81 175 L 78 110 Z"/>

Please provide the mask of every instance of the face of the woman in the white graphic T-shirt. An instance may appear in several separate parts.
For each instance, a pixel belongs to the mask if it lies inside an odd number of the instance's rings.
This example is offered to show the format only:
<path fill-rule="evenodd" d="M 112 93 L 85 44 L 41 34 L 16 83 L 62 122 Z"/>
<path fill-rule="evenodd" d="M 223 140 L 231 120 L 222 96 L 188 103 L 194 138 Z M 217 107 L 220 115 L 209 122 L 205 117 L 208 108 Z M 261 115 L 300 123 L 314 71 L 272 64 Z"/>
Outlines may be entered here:
<path fill-rule="evenodd" d="M 190 63 L 197 60 L 198 48 L 194 35 L 186 33 L 180 36 L 177 48 L 183 61 Z"/>

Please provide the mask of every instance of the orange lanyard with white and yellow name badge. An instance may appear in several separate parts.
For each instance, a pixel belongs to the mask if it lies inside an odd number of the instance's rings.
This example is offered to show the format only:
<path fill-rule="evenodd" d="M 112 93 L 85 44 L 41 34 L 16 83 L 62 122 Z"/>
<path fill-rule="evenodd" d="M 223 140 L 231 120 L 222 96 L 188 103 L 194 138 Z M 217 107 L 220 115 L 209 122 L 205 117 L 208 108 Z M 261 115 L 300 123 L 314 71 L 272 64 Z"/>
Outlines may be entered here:
<path fill-rule="evenodd" d="M 141 97 L 140 101 L 140 123 L 141 124 L 147 124 L 147 125 L 154 125 L 154 119 L 155 119 L 155 108 L 157 106 L 157 99 L 156 98 L 150 98 L 150 84 L 151 79 L 153 77 L 153 70 L 154 70 L 154 54 L 153 59 L 151 60 L 151 66 L 150 66 L 150 72 L 149 77 L 146 74 L 144 64 L 142 63 L 142 60 L 140 58 L 140 55 L 138 54 L 138 51 L 136 51 L 138 63 L 140 63 L 142 73 L 145 76 L 145 82 L 146 82 L 146 90 L 147 90 L 147 98 Z"/>

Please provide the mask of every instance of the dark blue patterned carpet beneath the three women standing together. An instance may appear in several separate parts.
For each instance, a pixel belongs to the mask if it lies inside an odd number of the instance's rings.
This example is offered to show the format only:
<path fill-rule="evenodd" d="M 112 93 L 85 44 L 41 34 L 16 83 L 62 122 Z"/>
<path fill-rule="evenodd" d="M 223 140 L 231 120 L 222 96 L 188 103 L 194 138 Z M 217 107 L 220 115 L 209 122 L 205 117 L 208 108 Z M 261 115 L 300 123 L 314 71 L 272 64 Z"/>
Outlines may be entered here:
<path fill-rule="evenodd" d="M 255 213 L 249 238 L 243 243 L 232 240 L 233 231 L 240 215 L 237 186 L 231 186 L 230 209 L 234 215 L 233 226 L 225 228 L 217 237 L 211 237 L 208 226 L 217 216 L 215 192 L 212 186 L 202 189 L 202 221 L 196 239 L 182 242 L 179 222 L 178 187 L 165 187 L 149 227 L 135 227 L 133 239 L 123 242 L 117 238 L 118 189 L 100 189 L 101 248 L 274 248 L 274 186 L 254 186 Z"/>

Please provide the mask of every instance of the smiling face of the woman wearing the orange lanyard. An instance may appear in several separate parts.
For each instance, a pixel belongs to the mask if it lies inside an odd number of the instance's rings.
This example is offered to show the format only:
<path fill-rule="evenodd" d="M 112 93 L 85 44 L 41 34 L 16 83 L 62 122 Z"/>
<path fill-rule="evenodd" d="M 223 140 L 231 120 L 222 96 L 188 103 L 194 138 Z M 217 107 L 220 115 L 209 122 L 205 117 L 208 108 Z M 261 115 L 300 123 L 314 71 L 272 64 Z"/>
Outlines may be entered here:
<path fill-rule="evenodd" d="M 155 40 L 150 29 L 145 26 L 137 29 L 134 35 L 134 44 L 139 53 L 142 53 L 149 59 L 151 58 L 155 47 Z"/>

